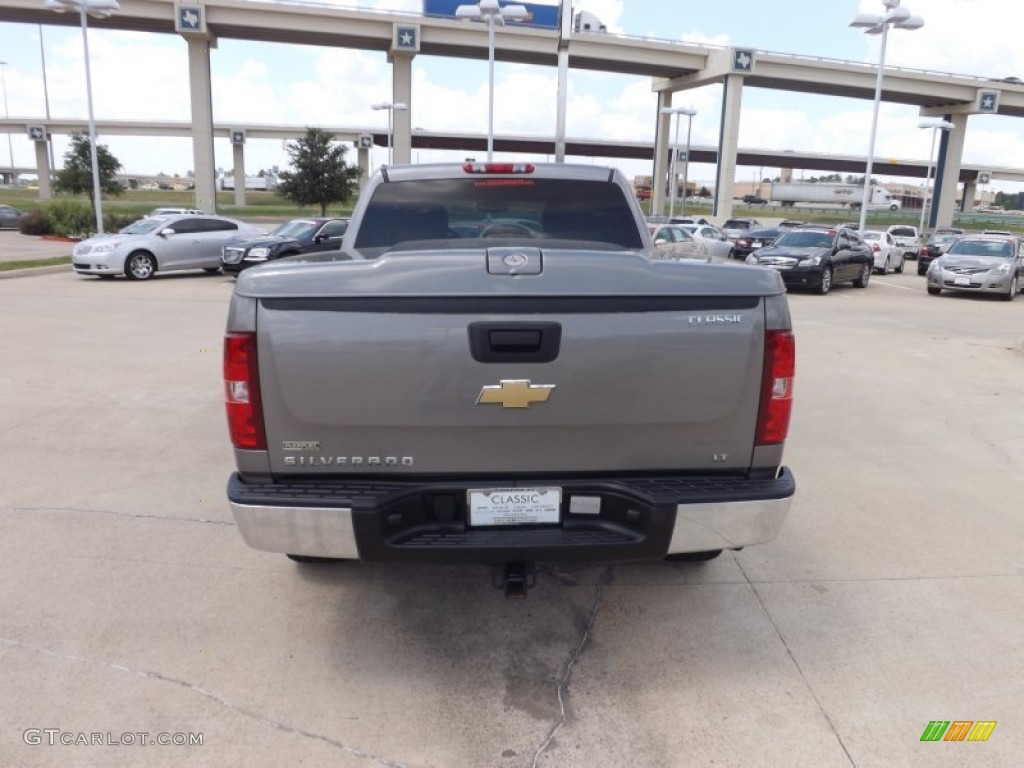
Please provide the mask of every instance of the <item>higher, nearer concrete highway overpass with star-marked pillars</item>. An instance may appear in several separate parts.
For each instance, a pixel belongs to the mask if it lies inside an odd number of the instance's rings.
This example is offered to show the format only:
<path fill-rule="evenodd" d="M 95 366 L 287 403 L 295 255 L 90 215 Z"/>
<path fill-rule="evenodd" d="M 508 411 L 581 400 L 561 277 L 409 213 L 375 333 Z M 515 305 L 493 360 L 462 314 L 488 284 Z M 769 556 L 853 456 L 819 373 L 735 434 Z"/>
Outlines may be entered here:
<path fill-rule="evenodd" d="M 198 12 L 197 25 L 182 26 L 182 12 L 186 10 L 193 14 Z M 0 20 L 79 24 L 77 15 L 55 14 L 43 8 L 40 0 L 0 0 Z M 169 0 L 122 0 L 115 15 L 95 19 L 90 25 L 178 34 L 184 39 L 188 46 L 199 207 L 210 205 L 214 191 L 210 48 L 217 38 L 386 51 L 392 66 L 393 100 L 410 104 L 414 98 L 412 60 L 416 55 L 477 59 L 487 56 L 487 34 L 482 25 L 313 3 L 207 0 L 200 5 Z M 411 31 L 409 39 L 415 44 L 403 43 L 406 37 L 399 36 L 399 31 Z M 716 158 L 716 213 L 720 215 L 727 215 L 731 207 L 735 168 L 739 162 L 737 134 L 743 87 L 870 99 L 877 76 L 876 67 L 856 61 L 527 27 L 502 29 L 496 56 L 500 60 L 554 67 L 559 61 L 559 51 L 565 54 L 570 68 L 651 78 L 651 88 L 656 93 L 656 104 L 652 103 L 651 109 L 652 119 L 656 121 L 653 151 L 656 179 L 668 178 L 670 156 L 670 116 L 662 115 L 659 110 L 671 105 L 673 94 L 680 90 L 709 83 L 724 84 L 721 153 Z M 961 158 L 969 116 L 1024 117 L 1024 84 L 907 68 L 886 68 L 883 99 L 915 105 L 925 115 L 957 117 L 956 128 L 943 134 L 937 163 L 934 218 L 943 222 L 952 215 L 955 187 L 962 176 Z M 411 110 L 394 113 L 395 162 L 411 160 L 414 146 L 411 120 Z M 552 143 L 561 146 L 564 137 L 556 136 Z M 878 172 L 889 171 L 879 167 Z M 665 184 L 656 183 L 654 187 L 654 205 L 660 207 L 660 189 Z"/>

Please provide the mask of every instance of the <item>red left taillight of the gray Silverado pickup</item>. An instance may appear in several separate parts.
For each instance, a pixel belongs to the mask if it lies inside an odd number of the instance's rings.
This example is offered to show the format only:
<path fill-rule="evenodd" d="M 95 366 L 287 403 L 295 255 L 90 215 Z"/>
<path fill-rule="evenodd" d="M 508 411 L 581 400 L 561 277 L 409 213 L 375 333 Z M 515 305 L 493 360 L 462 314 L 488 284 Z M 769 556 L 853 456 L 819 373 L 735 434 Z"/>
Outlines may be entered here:
<path fill-rule="evenodd" d="M 263 410 L 259 398 L 259 366 L 256 334 L 227 334 L 224 337 L 224 406 L 227 429 L 234 447 L 266 450 Z"/>

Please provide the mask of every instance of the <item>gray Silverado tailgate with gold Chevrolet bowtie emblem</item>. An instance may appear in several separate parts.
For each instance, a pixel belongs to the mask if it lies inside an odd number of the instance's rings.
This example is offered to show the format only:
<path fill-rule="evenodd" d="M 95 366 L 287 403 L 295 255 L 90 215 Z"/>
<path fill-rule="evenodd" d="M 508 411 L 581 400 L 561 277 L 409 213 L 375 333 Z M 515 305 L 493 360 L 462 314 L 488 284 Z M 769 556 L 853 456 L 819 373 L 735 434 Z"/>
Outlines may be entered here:
<path fill-rule="evenodd" d="M 749 467 L 764 358 L 757 291 L 712 295 L 706 265 L 644 262 L 653 282 L 566 295 L 555 264 L 517 283 L 487 275 L 501 287 L 490 295 L 468 281 L 446 295 L 260 298 L 271 471 Z M 454 286 L 459 271 L 445 276 Z"/>

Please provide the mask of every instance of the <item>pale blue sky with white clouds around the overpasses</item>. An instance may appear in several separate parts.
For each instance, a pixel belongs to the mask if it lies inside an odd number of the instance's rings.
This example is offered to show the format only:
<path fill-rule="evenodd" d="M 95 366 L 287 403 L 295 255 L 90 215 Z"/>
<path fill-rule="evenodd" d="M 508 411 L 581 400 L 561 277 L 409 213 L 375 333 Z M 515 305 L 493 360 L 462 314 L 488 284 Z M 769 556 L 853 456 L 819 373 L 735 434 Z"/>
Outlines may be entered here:
<path fill-rule="evenodd" d="M 0 0 L 2 1 L 2 0 Z M 40 0 L 42 2 L 42 0 Z M 554 0 L 540 0 L 555 4 Z M 419 11 L 420 0 L 335 0 L 340 7 Z M 1024 78 L 1024 3 L 1011 0 L 910 0 L 903 5 L 925 18 L 923 29 L 891 31 L 887 67 L 991 78 Z M 768 51 L 877 63 L 878 36 L 849 27 L 858 12 L 882 13 L 881 0 L 577 0 L 573 10 L 597 15 L 609 32 L 660 40 L 735 45 Z M 49 110 L 54 118 L 86 117 L 82 38 L 79 28 L 43 27 Z M 499 46 L 501 38 L 499 35 Z M 189 119 L 184 41 L 174 35 L 89 31 L 93 104 L 97 120 Z M 0 23 L 0 60 L 6 109 L 11 117 L 42 118 L 43 91 L 39 28 Z M 299 127 L 335 125 L 386 130 L 387 115 L 370 109 L 391 99 L 390 65 L 384 53 L 344 48 L 292 46 L 221 39 L 211 58 L 213 113 L 217 123 L 273 123 Z M 495 132 L 498 135 L 554 135 L 557 71 L 554 67 L 496 65 Z M 692 143 L 718 142 L 722 88 L 681 91 L 676 105 L 697 110 Z M 414 130 L 486 132 L 486 61 L 419 55 L 413 62 Z M 651 141 L 656 97 L 651 80 L 569 70 L 567 135 Z M 739 145 L 743 148 L 802 150 L 866 155 L 871 102 L 825 95 L 743 89 Z M 916 108 L 882 104 L 877 157 L 926 161 L 931 131 L 918 127 Z M 130 173 L 169 175 L 191 169 L 190 139 L 99 136 Z M 7 165 L 5 139 L 0 162 Z M 34 166 L 31 143 L 12 136 L 14 163 Z M 57 165 L 67 141 L 55 141 Z M 216 165 L 231 167 L 227 139 L 215 142 Z M 414 162 L 462 160 L 465 153 L 413 152 Z M 503 156 L 496 158 L 523 156 Z M 1024 121 L 974 116 L 969 123 L 965 162 L 1024 168 Z M 539 158 L 544 160 L 545 158 Z M 353 153 L 354 160 L 354 153 Z M 614 164 L 628 176 L 649 174 L 643 161 L 570 161 Z M 375 148 L 372 163 L 386 162 Z M 288 165 L 280 140 L 246 144 L 246 168 L 253 172 Z M 777 169 L 740 167 L 737 181 Z M 710 182 L 714 167 L 693 164 L 693 180 Z M 920 183 L 920 182 L 919 182 Z M 1020 184 L 993 182 L 992 188 L 1019 190 Z"/>

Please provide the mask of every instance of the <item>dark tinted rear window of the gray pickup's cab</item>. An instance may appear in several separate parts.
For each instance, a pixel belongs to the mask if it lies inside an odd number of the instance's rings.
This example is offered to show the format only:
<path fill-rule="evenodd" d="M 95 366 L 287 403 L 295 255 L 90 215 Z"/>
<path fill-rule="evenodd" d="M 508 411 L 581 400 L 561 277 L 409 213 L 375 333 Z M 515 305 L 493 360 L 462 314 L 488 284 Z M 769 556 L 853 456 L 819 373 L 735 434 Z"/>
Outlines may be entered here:
<path fill-rule="evenodd" d="M 394 247 L 479 248 L 481 240 L 501 239 L 644 247 L 633 209 L 615 184 L 474 176 L 379 185 L 354 248 L 374 257 Z"/>

